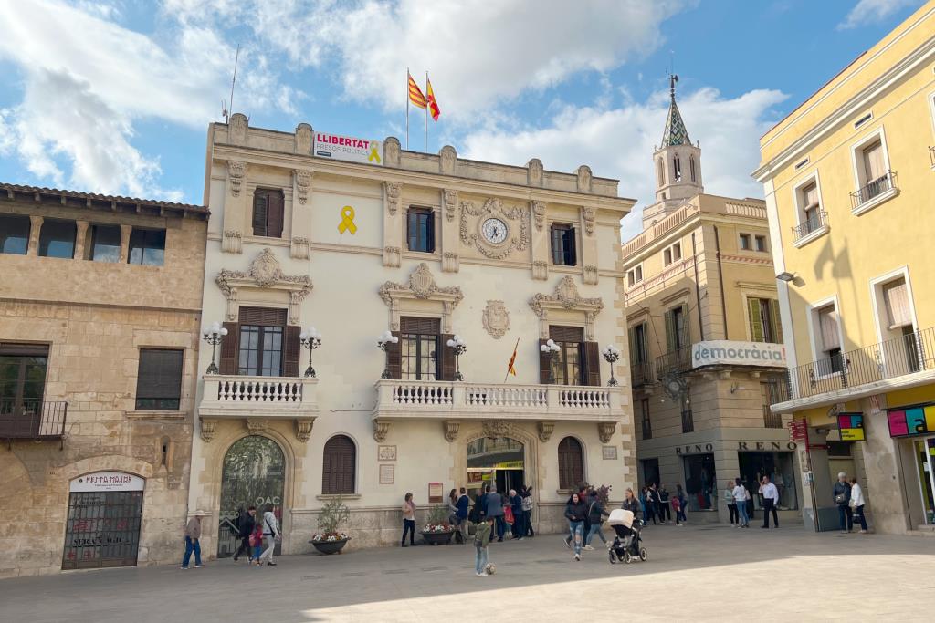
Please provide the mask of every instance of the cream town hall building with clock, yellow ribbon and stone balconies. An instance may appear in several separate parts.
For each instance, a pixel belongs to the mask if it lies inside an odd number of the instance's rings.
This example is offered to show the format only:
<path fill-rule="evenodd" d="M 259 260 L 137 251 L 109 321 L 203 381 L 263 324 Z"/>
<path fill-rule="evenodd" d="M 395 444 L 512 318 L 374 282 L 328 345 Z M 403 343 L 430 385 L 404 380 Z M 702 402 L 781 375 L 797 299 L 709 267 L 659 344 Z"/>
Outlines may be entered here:
<path fill-rule="evenodd" d="M 297 553 L 337 495 L 356 547 L 399 542 L 407 491 L 421 527 L 451 488 L 530 485 L 552 531 L 577 482 L 632 485 L 629 391 L 600 357 L 626 347 L 634 202 L 616 180 L 240 114 L 209 126 L 207 163 L 205 322 L 227 333 L 200 376 L 189 507 L 210 513 L 210 555 L 231 555 L 251 504 L 278 505 Z"/>

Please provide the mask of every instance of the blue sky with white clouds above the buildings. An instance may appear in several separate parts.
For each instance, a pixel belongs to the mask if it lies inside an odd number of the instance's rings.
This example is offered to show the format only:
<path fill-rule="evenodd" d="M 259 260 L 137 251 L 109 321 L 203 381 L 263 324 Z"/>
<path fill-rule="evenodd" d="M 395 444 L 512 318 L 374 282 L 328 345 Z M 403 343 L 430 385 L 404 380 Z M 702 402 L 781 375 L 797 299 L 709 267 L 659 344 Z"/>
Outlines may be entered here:
<path fill-rule="evenodd" d="M 669 71 L 705 191 L 762 197 L 758 139 L 922 0 L 0 0 L 0 181 L 202 204 L 208 124 L 406 142 L 653 201 Z M 425 149 L 410 113 L 410 149 Z"/>

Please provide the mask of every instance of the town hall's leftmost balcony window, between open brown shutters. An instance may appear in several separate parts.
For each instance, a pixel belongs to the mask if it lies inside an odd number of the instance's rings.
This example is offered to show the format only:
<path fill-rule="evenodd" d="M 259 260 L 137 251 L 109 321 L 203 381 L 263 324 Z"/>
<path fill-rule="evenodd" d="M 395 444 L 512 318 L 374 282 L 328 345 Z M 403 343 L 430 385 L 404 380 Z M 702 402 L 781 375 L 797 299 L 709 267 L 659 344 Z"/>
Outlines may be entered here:
<path fill-rule="evenodd" d="M 241 307 L 237 374 L 281 376 L 286 310 Z"/>

